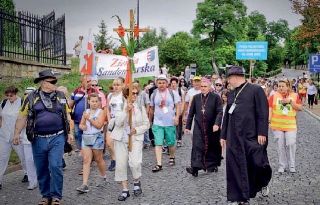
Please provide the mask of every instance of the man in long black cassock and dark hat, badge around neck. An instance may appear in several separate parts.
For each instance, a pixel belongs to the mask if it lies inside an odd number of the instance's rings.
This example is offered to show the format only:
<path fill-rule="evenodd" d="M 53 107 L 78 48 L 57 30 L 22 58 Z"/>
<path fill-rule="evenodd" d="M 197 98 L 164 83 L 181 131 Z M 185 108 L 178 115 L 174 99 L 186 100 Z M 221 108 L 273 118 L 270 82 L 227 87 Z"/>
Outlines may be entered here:
<path fill-rule="evenodd" d="M 241 66 L 231 66 L 228 94 L 221 131 L 226 146 L 227 200 L 245 204 L 261 191 L 269 193 L 272 169 L 267 156 L 268 100 L 263 89 L 245 79 Z"/>

